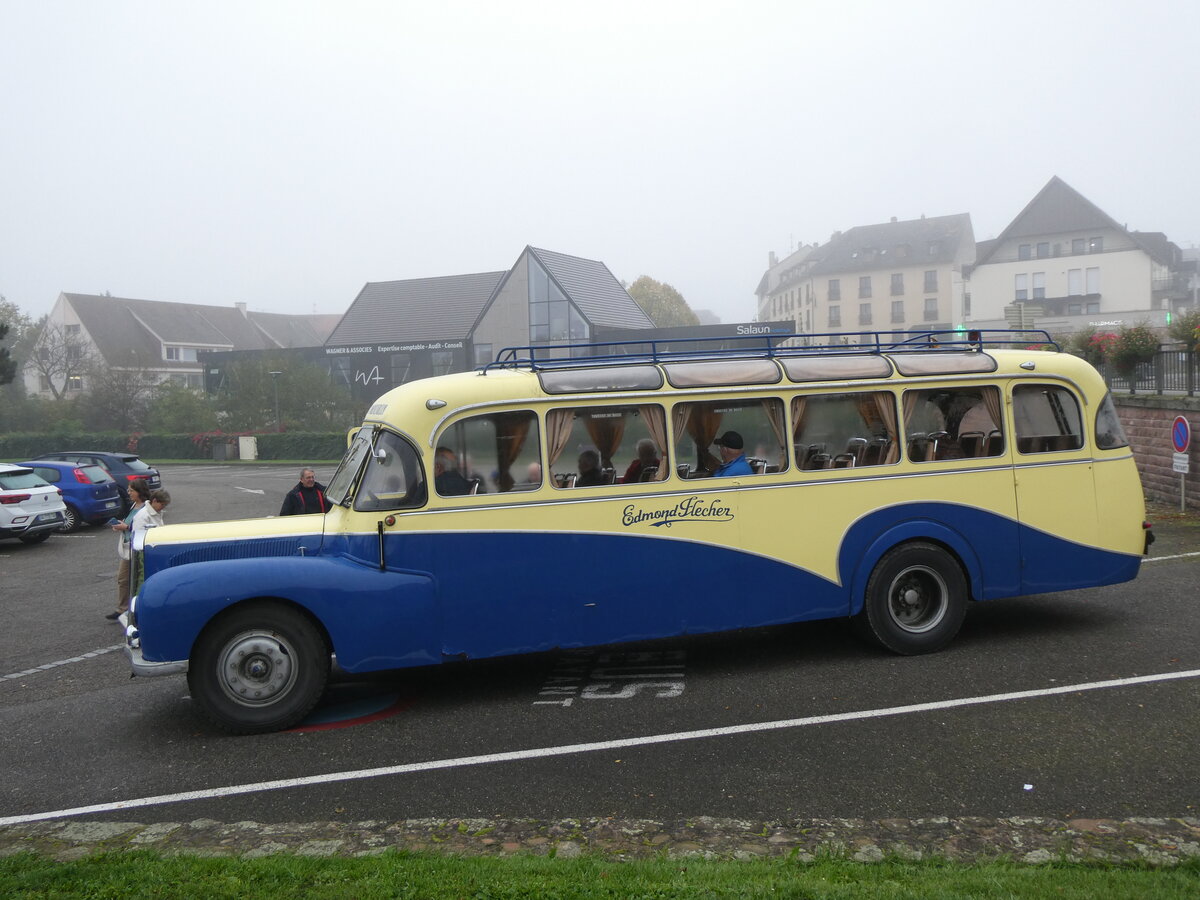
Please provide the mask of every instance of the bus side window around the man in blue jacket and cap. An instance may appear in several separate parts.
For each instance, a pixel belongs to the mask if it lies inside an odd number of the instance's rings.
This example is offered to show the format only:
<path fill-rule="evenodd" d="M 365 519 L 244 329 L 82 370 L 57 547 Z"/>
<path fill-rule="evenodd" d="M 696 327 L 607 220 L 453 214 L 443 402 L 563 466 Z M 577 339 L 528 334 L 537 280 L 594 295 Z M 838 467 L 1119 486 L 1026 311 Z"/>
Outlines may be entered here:
<path fill-rule="evenodd" d="M 784 402 L 761 400 L 712 400 L 679 403 L 672 415 L 672 430 L 680 478 L 708 478 L 721 467 L 716 438 L 733 431 L 742 437 L 742 455 L 754 475 L 787 468 L 787 424 Z"/>

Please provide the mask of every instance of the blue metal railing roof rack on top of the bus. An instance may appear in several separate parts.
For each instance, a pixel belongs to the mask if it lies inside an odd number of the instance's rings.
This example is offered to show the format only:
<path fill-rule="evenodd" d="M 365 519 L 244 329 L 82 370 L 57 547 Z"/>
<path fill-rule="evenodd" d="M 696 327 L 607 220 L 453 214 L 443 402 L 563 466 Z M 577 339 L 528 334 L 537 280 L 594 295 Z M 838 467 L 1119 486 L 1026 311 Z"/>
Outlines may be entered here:
<path fill-rule="evenodd" d="M 791 343 L 787 343 L 791 342 Z M 731 346 L 732 344 L 732 346 Z M 928 353 L 930 350 L 979 350 L 988 348 L 1062 348 L 1040 329 L 970 329 L 918 331 L 900 340 L 894 332 L 853 331 L 816 335 L 767 334 L 722 337 L 647 338 L 594 343 L 546 343 L 505 347 L 496 360 L 476 371 L 584 366 L 629 366 L 659 362 L 696 362 L 721 359 L 775 359 L 810 355 Z"/>

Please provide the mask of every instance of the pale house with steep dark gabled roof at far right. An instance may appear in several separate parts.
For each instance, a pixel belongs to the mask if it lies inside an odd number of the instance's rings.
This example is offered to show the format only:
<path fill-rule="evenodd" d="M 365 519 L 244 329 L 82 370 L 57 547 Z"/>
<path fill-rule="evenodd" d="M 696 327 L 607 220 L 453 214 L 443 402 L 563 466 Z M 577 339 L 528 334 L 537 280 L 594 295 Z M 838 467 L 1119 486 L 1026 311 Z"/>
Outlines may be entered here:
<path fill-rule="evenodd" d="M 1187 302 L 1183 268 L 1164 234 L 1129 230 L 1055 175 L 1000 236 L 979 242 L 966 322 L 1055 332 L 1160 326 Z"/>

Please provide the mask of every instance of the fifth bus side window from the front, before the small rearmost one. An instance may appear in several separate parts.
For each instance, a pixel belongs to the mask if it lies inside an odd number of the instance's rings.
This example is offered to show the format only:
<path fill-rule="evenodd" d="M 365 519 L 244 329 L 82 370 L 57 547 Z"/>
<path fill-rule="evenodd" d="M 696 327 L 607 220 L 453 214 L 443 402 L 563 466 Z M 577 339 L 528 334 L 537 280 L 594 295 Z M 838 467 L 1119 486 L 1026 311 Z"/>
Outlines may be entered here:
<path fill-rule="evenodd" d="M 1003 418 L 997 388 L 905 391 L 905 452 L 912 462 L 1001 456 Z"/>

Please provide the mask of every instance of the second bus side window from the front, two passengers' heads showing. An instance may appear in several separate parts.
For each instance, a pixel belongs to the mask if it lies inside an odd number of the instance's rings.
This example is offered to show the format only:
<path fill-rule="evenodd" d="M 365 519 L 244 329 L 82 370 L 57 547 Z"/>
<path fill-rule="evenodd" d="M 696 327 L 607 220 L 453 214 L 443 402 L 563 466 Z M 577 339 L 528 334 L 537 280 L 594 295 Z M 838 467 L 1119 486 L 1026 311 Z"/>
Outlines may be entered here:
<path fill-rule="evenodd" d="M 662 481 L 671 470 L 666 415 L 652 403 L 551 409 L 546 456 L 554 487 Z"/>

